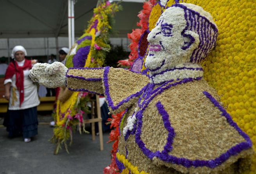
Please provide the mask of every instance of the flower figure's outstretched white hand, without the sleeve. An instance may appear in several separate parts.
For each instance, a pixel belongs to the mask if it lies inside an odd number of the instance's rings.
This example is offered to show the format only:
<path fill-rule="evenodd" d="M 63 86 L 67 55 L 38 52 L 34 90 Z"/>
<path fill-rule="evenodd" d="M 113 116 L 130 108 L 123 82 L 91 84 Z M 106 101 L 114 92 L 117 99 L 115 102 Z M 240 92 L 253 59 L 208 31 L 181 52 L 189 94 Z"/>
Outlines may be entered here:
<path fill-rule="evenodd" d="M 29 77 L 32 81 L 47 88 L 56 88 L 66 85 L 66 71 L 68 70 L 61 62 L 36 63 L 29 70 Z"/>

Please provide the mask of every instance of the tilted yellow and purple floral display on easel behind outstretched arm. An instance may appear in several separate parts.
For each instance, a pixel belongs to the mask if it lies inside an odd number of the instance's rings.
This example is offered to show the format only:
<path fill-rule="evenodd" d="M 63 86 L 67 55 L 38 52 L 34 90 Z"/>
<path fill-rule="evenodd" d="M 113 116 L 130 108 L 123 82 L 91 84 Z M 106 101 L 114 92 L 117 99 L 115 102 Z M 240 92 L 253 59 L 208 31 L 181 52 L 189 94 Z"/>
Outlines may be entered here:
<path fill-rule="evenodd" d="M 109 1 L 98 2 L 98 6 L 93 10 L 93 17 L 90 19 L 88 28 L 79 37 L 70 49 L 65 58 L 65 66 L 70 67 L 102 67 L 106 52 L 109 51 L 108 44 L 111 25 L 114 21 L 114 14 L 121 8 L 116 3 Z M 87 132 L 84 129 L 84 112 L 89 113 L 86 107 L 89 97 L 86 92 L 73 92 L 65 102 L 57 100 L 56 109 L 52 114 L 56 121 L 54 136 L 51 142 L 57 144 L 55 154 L 58 153 L 61 144 L 64 144 L 68 152 L 67 142 L 72 143 L 72 130 L 79 125 L 79 132 Z"/>

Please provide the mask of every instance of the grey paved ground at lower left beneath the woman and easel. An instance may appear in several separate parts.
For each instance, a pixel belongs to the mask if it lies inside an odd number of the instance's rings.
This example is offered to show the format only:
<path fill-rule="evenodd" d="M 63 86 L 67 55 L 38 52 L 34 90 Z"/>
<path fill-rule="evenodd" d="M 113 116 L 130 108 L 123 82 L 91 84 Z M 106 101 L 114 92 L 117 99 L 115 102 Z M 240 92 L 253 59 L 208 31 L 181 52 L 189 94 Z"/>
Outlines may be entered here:
<path fill-rule="evenodd" d="M 51 120 L 49 115 L 38 118 L 39 122 Z M 104 151 L 100 151 L 98 136 L 92 141 L 91 134 L 77 132 L 69 147 L 70 154 L 63 147 L 58 155 L 53 155 L 55 145 L 49 142 L 52 128 L 39 125 L 38 132 L 31 142 L 25 143 L 22 137 L 9 139 L 5 127 L 0 127 L 0 174 L 102 174 L 110 164 L 112 143 L 106 143 L 109 132 L 104 133 Z"/>

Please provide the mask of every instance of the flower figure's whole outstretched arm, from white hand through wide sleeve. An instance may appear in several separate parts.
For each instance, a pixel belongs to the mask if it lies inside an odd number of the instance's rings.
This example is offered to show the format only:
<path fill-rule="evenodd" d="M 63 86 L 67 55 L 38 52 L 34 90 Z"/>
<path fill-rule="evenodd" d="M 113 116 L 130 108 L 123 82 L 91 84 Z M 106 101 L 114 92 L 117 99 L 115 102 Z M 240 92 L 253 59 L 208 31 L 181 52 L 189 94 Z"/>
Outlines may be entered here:
<path fill-rule="evenodd" d="M 121 68 L 66 68 L 60 62 L 36 63 L 29 76 L 48 88 L 66 86 L 72 91 L 104 95 L 111 113 L 134 104 L 149 84 L 149 78 Z"/>

